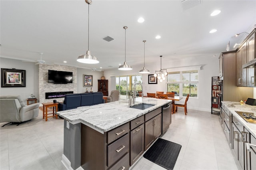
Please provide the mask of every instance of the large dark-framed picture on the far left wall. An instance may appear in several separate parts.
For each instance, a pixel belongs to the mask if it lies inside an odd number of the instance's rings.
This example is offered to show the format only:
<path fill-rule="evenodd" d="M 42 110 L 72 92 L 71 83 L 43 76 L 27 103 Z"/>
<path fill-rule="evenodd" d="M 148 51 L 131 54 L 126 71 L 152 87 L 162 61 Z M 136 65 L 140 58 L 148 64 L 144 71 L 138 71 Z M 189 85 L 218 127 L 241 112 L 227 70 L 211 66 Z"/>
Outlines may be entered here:
<path fill-rule="evenodd" d="M 1 87 L 26 87 L 26 70 L 1 68 Z"/>

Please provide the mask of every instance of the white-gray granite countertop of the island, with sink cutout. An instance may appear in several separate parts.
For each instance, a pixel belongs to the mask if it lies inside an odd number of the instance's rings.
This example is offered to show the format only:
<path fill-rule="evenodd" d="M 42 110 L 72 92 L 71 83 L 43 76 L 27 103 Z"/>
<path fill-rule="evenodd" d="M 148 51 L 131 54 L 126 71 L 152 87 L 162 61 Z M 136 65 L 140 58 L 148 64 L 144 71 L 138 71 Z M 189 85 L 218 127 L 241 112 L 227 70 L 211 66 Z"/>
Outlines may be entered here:
<path fill-rule="evenodd" d="M 98 132 L 104 133 L 170 102 L 171 100 L 166 99 L 138 97 L 135 98 L 135 105 L 147 103 L 154 106 L 144 110 L 133 109 L 129 107 L 128 100 L 122 100 L 59 111 L 57 115 L 72 124 L 83 123 Z"/>

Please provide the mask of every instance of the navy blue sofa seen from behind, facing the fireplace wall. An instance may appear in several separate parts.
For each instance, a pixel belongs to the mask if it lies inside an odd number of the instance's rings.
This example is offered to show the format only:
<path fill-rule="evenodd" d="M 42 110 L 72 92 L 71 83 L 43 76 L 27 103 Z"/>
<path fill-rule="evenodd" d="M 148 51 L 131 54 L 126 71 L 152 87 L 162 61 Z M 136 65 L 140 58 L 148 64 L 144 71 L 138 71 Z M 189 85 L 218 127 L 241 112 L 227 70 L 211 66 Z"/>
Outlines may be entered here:
<path fill-rule="evenodd" d="M 63 103 L 58 102 L 58 111 L 75 109 L 80 106 L 98 105 L 105 103 L 102 92 L 75 93 L 65 95 Z"/>

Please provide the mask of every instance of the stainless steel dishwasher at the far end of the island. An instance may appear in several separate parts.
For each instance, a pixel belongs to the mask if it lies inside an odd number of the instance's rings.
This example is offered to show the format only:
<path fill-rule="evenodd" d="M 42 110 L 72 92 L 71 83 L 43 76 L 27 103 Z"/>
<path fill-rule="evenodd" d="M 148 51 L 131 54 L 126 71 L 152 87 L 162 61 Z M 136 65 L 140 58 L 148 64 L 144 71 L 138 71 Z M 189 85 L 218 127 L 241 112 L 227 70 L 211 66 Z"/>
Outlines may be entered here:
<path fill-rule="evenodd" d="M 171 102 L 162 106 L 162 134 L 166 132 L 172 123 Z"/>

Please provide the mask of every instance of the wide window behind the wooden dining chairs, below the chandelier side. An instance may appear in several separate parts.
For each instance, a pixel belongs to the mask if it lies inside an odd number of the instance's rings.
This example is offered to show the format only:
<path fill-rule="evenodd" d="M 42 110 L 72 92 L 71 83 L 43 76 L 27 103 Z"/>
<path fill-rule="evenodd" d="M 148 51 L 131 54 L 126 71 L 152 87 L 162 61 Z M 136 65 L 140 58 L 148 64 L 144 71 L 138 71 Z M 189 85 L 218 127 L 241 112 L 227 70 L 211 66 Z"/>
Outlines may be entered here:
<path fill-rule="evenodd" d="M 176 91 L 182 97 L 189 93 L 190 97 L 198 97 L 198 70 L 168 73 L 167 91 Z"/>

